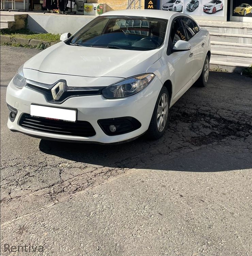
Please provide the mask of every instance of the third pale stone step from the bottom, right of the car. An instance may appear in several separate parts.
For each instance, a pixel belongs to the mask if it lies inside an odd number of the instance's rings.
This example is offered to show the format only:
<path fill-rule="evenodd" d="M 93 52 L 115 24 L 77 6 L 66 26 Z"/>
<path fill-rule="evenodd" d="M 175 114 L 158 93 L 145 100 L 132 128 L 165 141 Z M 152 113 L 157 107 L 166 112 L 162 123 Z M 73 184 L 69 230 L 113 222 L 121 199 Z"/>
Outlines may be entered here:
<path fill-rule="evenodd" d="M 252 54 L 252 44 L 211 41 L 211 50 Z"/>

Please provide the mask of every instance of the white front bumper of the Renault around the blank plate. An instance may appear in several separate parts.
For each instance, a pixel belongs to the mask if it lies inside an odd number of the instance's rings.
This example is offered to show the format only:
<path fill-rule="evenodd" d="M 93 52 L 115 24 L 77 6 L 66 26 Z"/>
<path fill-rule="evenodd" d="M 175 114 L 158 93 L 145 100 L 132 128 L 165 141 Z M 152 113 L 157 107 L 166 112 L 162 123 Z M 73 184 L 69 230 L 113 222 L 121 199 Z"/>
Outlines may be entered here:
<path fill-rule="evenodd" d="M 102 95 L 83 96 L 69 98 L 62 104 L 53 104 L 48 103 L 43 94 L 27 87 L 18 89 L 11 81 L 7 87 L 6 102 L 13 108 L 17 109 L 18 112 L 14 122 L 11 122 L 9 118 L 7 126 L 12 131 L 18 131 L 33 137 L 47 138 L 51 140 L 55 139 L 105 144 L 128 141 L 139 137 L 148 129 L 154 106 L 161 88 L 162 84 L 160 80 L 155 77 L 146 88 L 130 97 L 121 99 L 105 99 Z M 79 137 L 52 134 L 21 127 L 19 125 L 19 119 L 23 113 L 30 114 L 30 105 L 32 103 L 52 107 L 56 106 L 68 109 L 77 109 L 77 120 L 89 122 L 96 132 L 95 136 Z M 97 123 L 97 121 L 100 119 L 124 116 L 136 118 L 141 123 L 141 127 L 128 133 L 108 136 Z"/>

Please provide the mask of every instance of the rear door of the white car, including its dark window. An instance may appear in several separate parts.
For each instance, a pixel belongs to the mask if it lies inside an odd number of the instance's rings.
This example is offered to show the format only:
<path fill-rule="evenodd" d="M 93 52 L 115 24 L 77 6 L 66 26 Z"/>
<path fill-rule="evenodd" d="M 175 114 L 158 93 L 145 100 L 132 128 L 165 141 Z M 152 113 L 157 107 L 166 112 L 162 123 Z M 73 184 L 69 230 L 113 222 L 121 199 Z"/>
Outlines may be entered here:
<path fill-rule="evenodd" d="M 182 24 L 186 31 L 187 41 L 192 45 L 192 60 L 191 66 L 192 77 L 202 70 L 203 62 L 205 60 L 205 37 L 201 36 L 199 27 L 194 20 L 188 17 L 182 17 Z"/>

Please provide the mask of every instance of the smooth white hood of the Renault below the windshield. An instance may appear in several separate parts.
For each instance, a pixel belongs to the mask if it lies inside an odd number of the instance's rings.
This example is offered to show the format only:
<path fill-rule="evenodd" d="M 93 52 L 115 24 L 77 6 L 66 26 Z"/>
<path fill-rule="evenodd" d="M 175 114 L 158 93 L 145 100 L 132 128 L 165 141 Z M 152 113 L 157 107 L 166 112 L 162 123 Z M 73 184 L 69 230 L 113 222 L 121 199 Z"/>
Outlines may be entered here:
<path fill-rule="evenodd" d="M 145 73 L 160 57 L 160 49 L 130 51 L 60 42 L 32 57 L 23 68 L 74 76 L 126 78 Z"/>

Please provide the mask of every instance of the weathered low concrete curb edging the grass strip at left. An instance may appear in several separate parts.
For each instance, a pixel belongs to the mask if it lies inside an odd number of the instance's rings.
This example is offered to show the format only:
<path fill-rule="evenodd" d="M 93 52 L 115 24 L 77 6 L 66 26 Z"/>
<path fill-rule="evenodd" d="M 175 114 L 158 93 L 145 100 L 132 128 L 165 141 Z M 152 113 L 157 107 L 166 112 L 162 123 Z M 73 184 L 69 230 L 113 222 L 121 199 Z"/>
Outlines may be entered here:
<path fill-rule="evenodd" d="M 15 44 L 22 44 L 22 45 L 38 45 L 38 44 L 45 44 L 45 45 L 53 45 L 57 44 L 58 42 L 47 42 L 43 40 L 37 40 L 37 39 L 27 39 L 22 37 L 13 37 L 11 38 L 9 35 L 0 35 L 0 44 L 3 43 L 15 43 Z"/>

